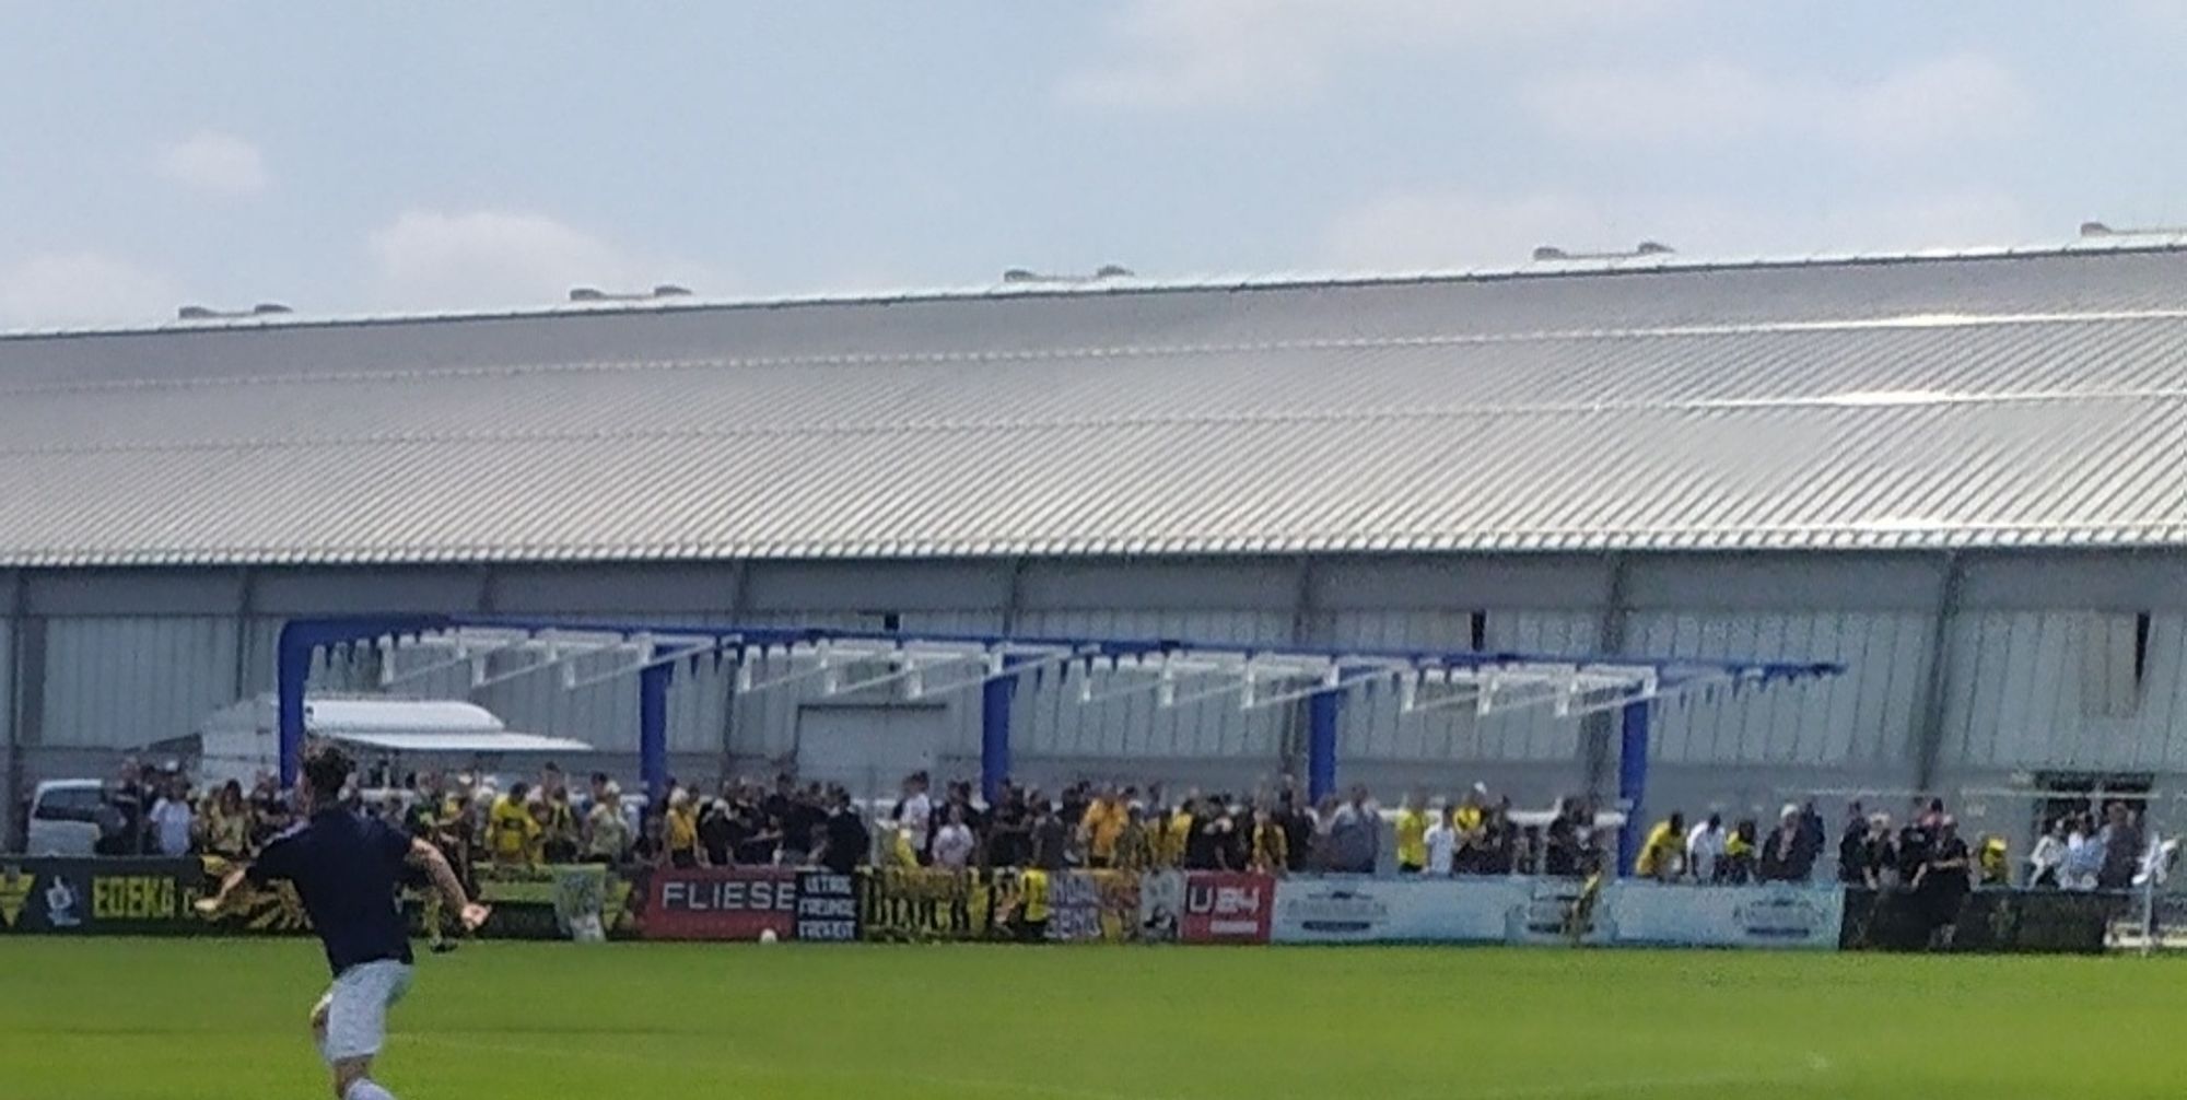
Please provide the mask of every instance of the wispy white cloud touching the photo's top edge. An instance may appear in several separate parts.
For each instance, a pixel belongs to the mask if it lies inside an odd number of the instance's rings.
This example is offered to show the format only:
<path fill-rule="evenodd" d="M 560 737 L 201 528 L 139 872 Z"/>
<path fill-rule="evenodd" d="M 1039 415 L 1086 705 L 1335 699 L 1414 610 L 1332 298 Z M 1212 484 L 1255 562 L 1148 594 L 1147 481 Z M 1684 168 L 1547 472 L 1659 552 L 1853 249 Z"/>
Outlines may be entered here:
<path fill-rule="evenodd" d="M 1065 74 L 1067 103 L 1209 107 L 1310 96 L 1343 63 L 1411 48 L 1621 26 L 1664 0 L 1131 0 L 1118 55 Z"/>

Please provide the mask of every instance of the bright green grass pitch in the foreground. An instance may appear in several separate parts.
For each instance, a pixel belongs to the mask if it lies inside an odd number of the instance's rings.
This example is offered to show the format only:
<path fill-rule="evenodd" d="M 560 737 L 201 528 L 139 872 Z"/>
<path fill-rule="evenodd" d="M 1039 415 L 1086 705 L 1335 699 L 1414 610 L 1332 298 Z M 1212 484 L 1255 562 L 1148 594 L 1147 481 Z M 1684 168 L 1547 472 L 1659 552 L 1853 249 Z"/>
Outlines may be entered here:
<path fill-rule="evenodd" d="M 479 943 L 402 1100 L 1922 1098 L 2187 1091 L 2187 967 L 1559 949 Z M 304 940 L 0 940 L 0 1098 L 326 1096 Z"/>

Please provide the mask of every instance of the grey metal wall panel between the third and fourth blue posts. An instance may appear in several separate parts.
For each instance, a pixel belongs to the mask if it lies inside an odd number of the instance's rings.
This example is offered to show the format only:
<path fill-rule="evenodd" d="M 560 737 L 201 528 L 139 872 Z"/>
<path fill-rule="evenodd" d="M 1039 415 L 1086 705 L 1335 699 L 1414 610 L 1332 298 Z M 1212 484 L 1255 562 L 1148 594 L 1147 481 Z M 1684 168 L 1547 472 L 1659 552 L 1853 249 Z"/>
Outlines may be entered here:
<path fill-rule="evenodd" d="M 1293 615 L 1275 610 L 1028 610 L 1021 634 L 1100 639 L 1192 639 L 1288 645 Z M 1098 684 L 1096 691 L 1109 684 Z M 1181 689 L 1190 691 L 1190 687 Z M 1146 772 L 1135 761 L 1161 757 L 1253 757 L 1275 761 L 1297 724 L 1297 709 L 1242 711 L 1236 695 L 1159 706 L 1153 691 L 1080 704 L 1076 689 L 1045 678 L 1021 691 L 1013 711 L 1013 752 L 1113 761 L 1109 772 Z M 975 719 L 978 728 L 978 719 Z M 1122 779 L 1122 776 L 1120 776 Z M 1159 779 L 1139 774 L 1139 779 Z"/>

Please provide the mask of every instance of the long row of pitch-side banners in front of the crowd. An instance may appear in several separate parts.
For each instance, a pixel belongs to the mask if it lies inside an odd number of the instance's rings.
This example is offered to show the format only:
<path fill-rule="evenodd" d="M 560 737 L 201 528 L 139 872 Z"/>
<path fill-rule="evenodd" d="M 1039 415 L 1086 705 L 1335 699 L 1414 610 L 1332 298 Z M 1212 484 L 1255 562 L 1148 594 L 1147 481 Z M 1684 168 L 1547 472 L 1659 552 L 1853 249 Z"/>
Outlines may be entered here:
<path fill-rule="evenodd" d="M 0 936 L 280 936 L 311 929 L 286 886 L 219 916 L 223 859 L 4 859 Z M 1268 877 L 1207 870 L 481 868 L 492 938 L 803 943 L 1594 945 L 1879 949 L 1929 945 L 1907 894 L 1839 886 L 1660 886 L 1546 877 Z M 407 903 L 422 929 L 420 899 Z M 1957 951 L 2104 951 L 2132 894 L 1975 890 Z"/>

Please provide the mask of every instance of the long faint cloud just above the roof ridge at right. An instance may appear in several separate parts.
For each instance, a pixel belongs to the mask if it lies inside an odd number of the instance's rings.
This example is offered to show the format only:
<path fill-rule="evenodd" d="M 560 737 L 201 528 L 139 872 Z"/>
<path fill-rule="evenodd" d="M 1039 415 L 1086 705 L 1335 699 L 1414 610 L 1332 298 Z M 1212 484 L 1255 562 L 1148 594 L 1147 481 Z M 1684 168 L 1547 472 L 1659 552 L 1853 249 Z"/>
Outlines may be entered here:
<path fill-rule="evenodd" d="M 2058 227 L 2049 227 L 2058 230 Z M 2049 236 L 2056 236 L 2051 232 Z M 2010 245 L 2045 238 L 2019 199 L 1946 190 L 1846 199 L 1824 210 L 1719 199 L 1612 203 L 1572 192 L 1400 192 L 1338 214 L 1330 262 L 1356 269 L 1524 267 L 1537 245 L 1623 251 L 1660 241 L 1695 258 Z"/>

